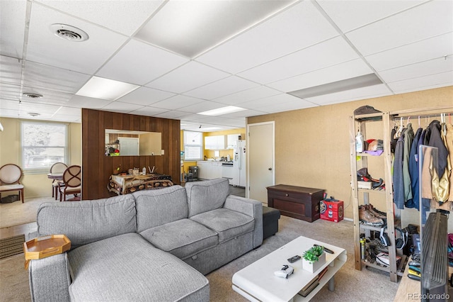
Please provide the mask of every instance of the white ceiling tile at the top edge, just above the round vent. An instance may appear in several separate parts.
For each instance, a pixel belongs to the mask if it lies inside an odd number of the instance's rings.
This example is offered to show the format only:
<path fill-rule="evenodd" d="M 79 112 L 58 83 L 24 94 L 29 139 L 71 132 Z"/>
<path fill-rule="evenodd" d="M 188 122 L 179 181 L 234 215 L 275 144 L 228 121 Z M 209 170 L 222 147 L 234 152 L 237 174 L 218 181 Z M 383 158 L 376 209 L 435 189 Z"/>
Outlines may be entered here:
<path fill-rule="evenodd" d="M 164 1 L 38 0 L 38 2 L 105 28 L 111 28 L 118 33 L 132 35 Z"/>

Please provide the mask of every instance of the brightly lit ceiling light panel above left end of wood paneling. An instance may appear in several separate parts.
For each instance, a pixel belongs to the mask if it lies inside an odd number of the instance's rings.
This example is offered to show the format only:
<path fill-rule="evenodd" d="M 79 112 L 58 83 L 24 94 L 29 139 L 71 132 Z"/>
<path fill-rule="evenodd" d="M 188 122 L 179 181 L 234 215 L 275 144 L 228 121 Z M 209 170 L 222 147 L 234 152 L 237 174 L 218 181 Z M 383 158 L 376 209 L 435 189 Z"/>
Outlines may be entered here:
<path fill-rule="evenodd" d="M 102 77 L 92 77 L 86 84 L 77 91 L 78 96 L 88 96 L 90 98 L 105 99 L 116 101 L 121 96 L 139 88 L 137 85 L 104 79 Z"/>

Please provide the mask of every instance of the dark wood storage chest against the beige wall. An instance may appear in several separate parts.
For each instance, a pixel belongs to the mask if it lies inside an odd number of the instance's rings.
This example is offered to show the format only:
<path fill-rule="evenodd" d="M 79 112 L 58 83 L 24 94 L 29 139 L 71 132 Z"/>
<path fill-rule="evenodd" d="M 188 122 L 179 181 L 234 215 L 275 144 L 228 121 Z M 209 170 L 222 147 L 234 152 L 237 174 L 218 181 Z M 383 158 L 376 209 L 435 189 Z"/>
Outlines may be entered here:
<path fill-rule="evenodd" d="M 324 190 L 277 184 L 268 186 L 268 206 L 277 208 L 280 213 L 310 223 L 319 219 L 319 201 Z"/>

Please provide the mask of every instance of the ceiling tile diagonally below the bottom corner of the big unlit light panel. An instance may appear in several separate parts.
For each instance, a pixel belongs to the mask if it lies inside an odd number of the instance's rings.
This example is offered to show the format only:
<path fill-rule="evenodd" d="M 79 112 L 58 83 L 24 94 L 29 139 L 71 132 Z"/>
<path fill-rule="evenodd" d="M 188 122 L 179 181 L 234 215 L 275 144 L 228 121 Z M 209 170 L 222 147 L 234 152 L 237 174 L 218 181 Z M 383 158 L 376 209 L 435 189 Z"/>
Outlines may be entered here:
<path fill-rule="evenodd" d="M 229 75 L 226 72 L 191 61 L 159 77 L 159 79 L 155 79 L 147 86 L 180 94 L 219 79 L 224 79 L 229 77 Z"/>

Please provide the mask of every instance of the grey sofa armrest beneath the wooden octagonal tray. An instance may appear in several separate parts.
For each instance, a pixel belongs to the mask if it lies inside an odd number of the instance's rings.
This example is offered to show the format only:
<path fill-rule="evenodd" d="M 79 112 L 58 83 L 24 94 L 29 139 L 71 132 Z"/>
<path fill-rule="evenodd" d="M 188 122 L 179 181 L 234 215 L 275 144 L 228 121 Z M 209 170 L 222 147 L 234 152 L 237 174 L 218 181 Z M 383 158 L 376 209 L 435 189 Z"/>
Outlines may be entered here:
<path fill-rule="evenodd" d="M 70 301 L 70 270 L 66 252 L 30 260 L 28 277 L 31 301 Z"/>

